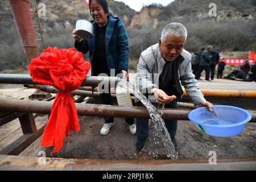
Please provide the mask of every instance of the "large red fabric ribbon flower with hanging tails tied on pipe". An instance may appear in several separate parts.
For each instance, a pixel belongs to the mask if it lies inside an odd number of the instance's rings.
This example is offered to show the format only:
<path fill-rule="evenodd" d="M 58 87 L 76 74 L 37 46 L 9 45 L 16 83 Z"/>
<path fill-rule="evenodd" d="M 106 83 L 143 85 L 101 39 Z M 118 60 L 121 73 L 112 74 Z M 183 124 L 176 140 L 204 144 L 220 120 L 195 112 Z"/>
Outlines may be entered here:
<path fill-rule="evenodd" d="M 48 47 L 28 65 L 34 82 L 59 90 L 41 141 L 42 147 L 55 146 L 52 154 L 61 150 L 65 135 L 68 140 L 69 129 L 75 133 L 80 130 L 75 102 L 69 92 L 79 88 L 89 69 L 90 63 L 75 48 Z"/>

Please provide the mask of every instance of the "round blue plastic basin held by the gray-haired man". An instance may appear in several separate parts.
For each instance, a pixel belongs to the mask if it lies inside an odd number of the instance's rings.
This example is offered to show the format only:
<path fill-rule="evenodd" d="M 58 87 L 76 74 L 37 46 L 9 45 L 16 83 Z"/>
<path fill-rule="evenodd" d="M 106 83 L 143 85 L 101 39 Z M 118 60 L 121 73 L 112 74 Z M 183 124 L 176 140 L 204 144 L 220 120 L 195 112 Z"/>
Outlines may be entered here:
<path fill-rule="evenodd" d="M 244 109 L 234 106 L 199 107 L 188 114 L 188 118 L 196 127 L 214 137 L 233 137 L 243 131 L 245 124 L 251 120 L 251 115 Z"/>

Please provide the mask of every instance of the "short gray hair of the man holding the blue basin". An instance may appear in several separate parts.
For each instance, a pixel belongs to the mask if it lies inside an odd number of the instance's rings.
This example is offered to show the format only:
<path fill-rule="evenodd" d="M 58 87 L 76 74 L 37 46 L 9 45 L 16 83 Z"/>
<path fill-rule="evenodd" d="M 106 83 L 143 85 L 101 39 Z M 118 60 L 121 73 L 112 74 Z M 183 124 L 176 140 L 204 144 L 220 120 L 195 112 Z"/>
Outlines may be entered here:
<path fill-rule="evenodd" d="M 168 35 L 183 37 L 187 39 L 187 28 L 185 28 L 181 23 L 169 23 L 166 27 L 163 28 L 161 35 L 162 42 L 166 41 Z"/>

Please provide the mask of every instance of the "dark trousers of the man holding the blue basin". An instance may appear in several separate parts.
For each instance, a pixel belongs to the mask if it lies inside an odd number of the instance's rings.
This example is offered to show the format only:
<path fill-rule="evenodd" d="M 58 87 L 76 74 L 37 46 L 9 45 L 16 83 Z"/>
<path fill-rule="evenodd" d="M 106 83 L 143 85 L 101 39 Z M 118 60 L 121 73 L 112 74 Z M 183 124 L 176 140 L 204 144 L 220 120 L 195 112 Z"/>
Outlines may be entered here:
<path fill-rule="evenodd" d="M 136 106 L 143 106 L 141 102 L 137 102 Z M 177 108 L 177 101 L 172 101 L 170 104 L 166 104 L 164 108 Z M 177 131 L 176 119 L 164 119 L 164 124 L 171 137 L 175 137 Z M 148 118 L 137 118 L 136 122 L 136 135 L 140 139 L 146 139 L 148 137 Z"/>

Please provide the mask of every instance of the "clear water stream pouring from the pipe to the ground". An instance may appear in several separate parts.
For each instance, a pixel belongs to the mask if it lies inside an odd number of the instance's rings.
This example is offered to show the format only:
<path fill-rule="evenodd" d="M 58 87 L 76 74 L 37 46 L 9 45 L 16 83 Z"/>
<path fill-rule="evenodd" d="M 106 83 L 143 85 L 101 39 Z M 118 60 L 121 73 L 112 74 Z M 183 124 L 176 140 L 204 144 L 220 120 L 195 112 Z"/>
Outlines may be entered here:
<path fill-rule="evenodd" d="M 147 97 L 139 92 L 139 90 L 136 89 L 134 85 L 130 84 L 130 82 L 121 80 L 118 82 L 117 86 L 128 89 L 127 92 L 129 91 L 129 93 L 133 93 L 134 96 L 137 97 L 142 102 L 142 104 L 147 107 L 148 113 L 150 114 L 156 129 L 156 136 L 162 139 L 164 146 L 167 148 L 168 158 L 177 159 L 174 144 L 171 142 L 170 134 L 168 133 L 166 126 L 164 125 L 164 121 L 161 117 L 163 114 L 164 104 L 162 106 L 162 113 L 160 115 L 156 107 L 151 104 Z"/>

